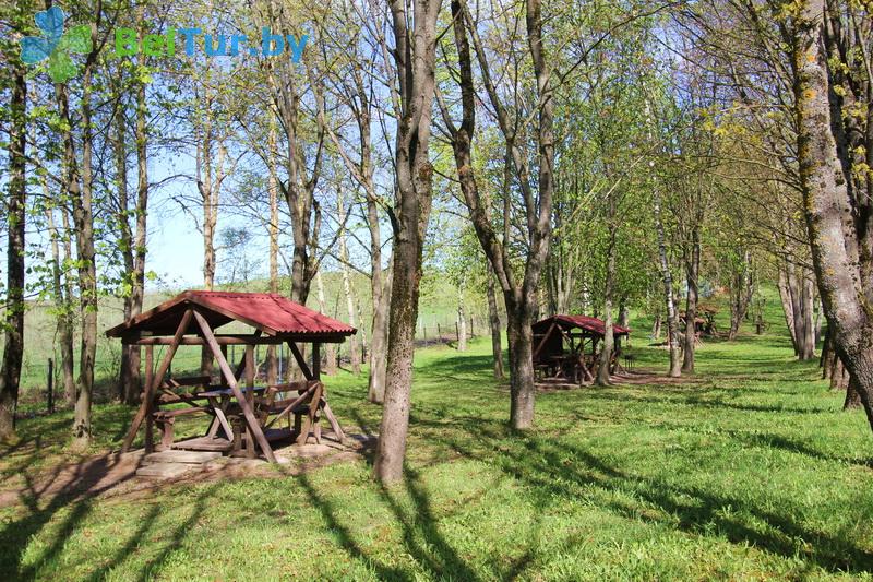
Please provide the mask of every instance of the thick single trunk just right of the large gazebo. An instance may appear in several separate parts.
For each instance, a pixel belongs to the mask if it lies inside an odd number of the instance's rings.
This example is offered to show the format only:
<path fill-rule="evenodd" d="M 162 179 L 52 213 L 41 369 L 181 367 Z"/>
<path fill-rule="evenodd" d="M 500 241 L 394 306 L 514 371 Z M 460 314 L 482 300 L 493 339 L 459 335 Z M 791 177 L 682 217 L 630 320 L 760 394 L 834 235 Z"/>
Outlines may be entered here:
<path fill-rule="evenodd" d="M 391 0 L 390 5 L 402 111 L 395 146 L 394 269 L 385 403 L 374 462 L 375 476 L 383 483 L 403 477 L 406 455 L 421 258 L 433 197 L 428 145 L 440 0 L 414 0 L 411 7 Z M 412 14 L 408 14 L 409 10 Z M 408 31 L 408 23 L 414 31 Z"/>

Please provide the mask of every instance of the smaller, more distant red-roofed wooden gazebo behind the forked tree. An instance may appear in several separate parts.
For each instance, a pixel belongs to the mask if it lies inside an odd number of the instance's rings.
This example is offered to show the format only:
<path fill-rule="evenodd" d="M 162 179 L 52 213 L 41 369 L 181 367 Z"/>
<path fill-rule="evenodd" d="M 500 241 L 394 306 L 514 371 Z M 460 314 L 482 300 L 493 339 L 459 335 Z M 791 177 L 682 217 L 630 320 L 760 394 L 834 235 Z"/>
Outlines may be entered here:
<path fill-rule="evenodd" d="M 574 382 L 594 381 L 600 363 L 597 347 L 606 334 L 602 320 L 588 316 L 552 316 L 531 328 L 535 369 Z M 617 349 L 610 368 L 618 361 L 621 338 L 630 335 L 631 330 L 613 324 L 612 333 Z"/>

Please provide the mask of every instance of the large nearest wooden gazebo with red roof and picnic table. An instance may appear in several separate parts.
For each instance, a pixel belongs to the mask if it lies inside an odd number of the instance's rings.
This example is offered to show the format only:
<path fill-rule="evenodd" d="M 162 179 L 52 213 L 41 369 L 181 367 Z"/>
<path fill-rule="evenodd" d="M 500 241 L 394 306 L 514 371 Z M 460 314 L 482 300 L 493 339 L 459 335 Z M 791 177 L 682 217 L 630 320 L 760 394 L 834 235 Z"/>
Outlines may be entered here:
<path fill-rule="evenodd" d="M 251 333 L 216 333 L 230 322 L 240 322 Z M 255 456 L 255 448 L 274 462 L 272 441 L 294 438 L 306 442 L 310 436 L 321 441 L 320 419 L 324 416 L 338 440 L 345 439 L 320 378 L 320 346 L 339 343 L 357 332 L 280 295 L 264 293 L 227 293 L 187 290 L 140 316 L 108 330 L 106 335 L 119 337 L 127 345 L 145 349 L 145 380 L 140 409 L 124 437 L 122 451 L 130 449 L 140 427 L 145 423 L 145 449 L 154 449 L 153 427 L 162 429 L 162 449 L 186 449 L 240 452 Z M 255 385 L 256 345 L 287 343 L 303 381 Z M 310 344 L 311 367 L 298 344 Z M 219 381 L 208 376 L 174 378 L 168 375 L 180 345 L 206 346 L 218 364 Z M 244 346 L 244 354 L 231 368 L 227 358 L 229 345 Z M 166 352 L 154 370 L 154 346 Z M 244 385 L 240 383 L 244 376 Z M 183 415 L 211 417 L 203 437 L 174 441 L 174 423 Z M 287 418 L 288 428 L 273 428 Z"/>

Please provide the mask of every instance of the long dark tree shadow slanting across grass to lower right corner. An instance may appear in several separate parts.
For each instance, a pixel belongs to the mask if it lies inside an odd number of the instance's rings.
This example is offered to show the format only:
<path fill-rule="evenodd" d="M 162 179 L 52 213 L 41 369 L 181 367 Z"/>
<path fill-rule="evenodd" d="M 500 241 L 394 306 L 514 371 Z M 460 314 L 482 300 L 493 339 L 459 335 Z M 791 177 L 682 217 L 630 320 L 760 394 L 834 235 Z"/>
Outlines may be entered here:
<path fill-rule="evenodd" d="M 612 494 L 631 492 L 660 510 L 659 516 L 653 518 L 641 515 L 638 506 L 620 501 L 606 506 L 627 519 L 656 521 L 698 535 L 715 531 L 731 543 L 751 544 L 792 560 L 801 556 L 809 563 L 833 572 L 868 571 L 873 565 L 873 553 L 852 543 L 850 534 L 808 528 L 791 515 L 765 509 L 745 498 L 629 474 L 566 442 L 523 437 L 507 446 L 501 431 L 485 426 L 479 435 L 491 444 L 490 452 L 475 451 L 463 440 L 449 444 L 458 453 L 497 466 L 530 486 L 531 495 L 541 496 L 547 502 L 553 497 L 576 498 L 581 487 L 594 485 Z M 726 512 L 726 508 L 731 511 Z M 743 514 L 768 524 L 769 528 L 753 527 Z"/>

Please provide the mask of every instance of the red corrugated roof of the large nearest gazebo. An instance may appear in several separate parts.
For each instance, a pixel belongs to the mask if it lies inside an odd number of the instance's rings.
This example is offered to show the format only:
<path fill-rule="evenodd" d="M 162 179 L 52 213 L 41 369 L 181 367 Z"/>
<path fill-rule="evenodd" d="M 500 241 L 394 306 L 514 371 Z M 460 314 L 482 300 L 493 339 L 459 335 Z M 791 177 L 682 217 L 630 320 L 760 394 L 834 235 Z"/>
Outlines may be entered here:
<path fill-rule="evenodd" d="M 231 293 L 187 290 L 141 316 L 116 325 L 106 334 L 117 337 L 134 331 L 152 335 L 171 335 L 191 305 L 215 329 L 230 321 L 240 321 L 262 330 L 267 335 L 347 336 L 357 330 L 306 306 L 272 293 Z M 189 328 L 189 333 L 195 333 Z"/>

